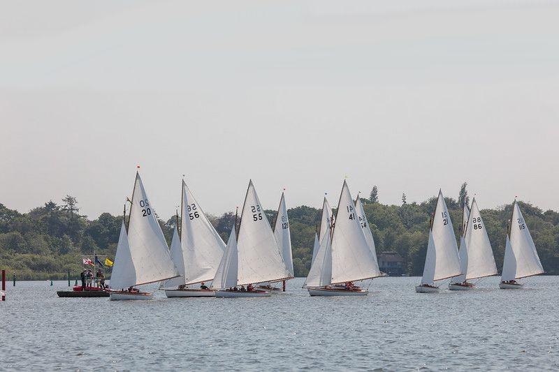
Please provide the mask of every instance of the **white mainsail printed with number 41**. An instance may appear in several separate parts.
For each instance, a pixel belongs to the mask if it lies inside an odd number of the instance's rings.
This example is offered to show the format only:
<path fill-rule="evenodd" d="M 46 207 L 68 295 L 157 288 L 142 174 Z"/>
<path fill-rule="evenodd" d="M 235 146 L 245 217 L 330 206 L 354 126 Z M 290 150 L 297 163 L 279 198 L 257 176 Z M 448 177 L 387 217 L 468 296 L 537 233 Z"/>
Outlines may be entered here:
<path fill-rule="evenodd" d="M 332 232 L 332 283 L 360 281 L 377 276 L 382 276 L 377 258 L 363 235 L 354 201 L 344 181 Z"/>

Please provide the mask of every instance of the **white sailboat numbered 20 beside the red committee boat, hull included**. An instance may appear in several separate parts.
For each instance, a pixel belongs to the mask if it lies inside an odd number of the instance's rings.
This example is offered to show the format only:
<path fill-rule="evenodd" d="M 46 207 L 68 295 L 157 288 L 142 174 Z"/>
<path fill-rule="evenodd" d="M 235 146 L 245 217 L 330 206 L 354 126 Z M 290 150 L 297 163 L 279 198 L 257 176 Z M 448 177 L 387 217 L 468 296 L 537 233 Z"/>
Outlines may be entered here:
<path fill-rule="evenodd" d="M 140 172 L 136 172 L 130 203 L 128 230 L 123 221 L 112 267 L 110 285 L 115 288 L 110 292 L 112 300 L 152 299 L 152 293 L 140 292 L 134 287 L 180 275 L 170 258 L 167 241 L 145 193 Z"/>

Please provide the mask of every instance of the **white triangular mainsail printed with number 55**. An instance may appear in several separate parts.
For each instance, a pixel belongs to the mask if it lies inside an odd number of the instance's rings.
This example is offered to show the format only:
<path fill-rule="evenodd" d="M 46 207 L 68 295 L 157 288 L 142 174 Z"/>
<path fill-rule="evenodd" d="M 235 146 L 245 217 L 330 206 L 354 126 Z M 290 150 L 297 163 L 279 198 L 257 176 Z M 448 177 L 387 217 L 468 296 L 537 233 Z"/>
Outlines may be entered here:
<path fill-rule="evenodd" d="M 293 276 L 285 267 L 279 247 L 256 190 L 249 182 L 237 236 L 238 285 L 280 281 Z"/>

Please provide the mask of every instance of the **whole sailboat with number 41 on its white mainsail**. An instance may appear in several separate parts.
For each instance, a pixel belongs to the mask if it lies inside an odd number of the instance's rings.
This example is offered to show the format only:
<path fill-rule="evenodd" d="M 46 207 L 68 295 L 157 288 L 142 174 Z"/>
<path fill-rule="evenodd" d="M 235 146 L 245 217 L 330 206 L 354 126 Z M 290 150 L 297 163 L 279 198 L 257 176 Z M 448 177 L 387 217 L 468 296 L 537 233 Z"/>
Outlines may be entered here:
<path fill-rule="evenodd" d="M 324 210 L 329 208 L 323 204 Z M 335 224 L 321 228 L 322 239 L 305 288 L 311 296 L 368 295 L 354 281 L 382 276 L 359 224 L 354 201 L 344 181 L 337 205 Z"/>

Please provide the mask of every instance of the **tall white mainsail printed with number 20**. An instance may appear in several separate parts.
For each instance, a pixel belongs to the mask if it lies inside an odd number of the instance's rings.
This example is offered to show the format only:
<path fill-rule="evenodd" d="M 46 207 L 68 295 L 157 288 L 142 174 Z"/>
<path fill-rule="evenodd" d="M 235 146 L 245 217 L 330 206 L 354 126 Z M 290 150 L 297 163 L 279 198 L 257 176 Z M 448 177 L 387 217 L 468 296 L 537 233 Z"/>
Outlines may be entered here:
<path fill-rule="evenodd" d="M 136 173 L 132 194 L 128 242 L 132 262 L 136 267 L 136 285 L 164 281 L 180 275 L 170 258 L 167 242 L 139 173 Z"/>

